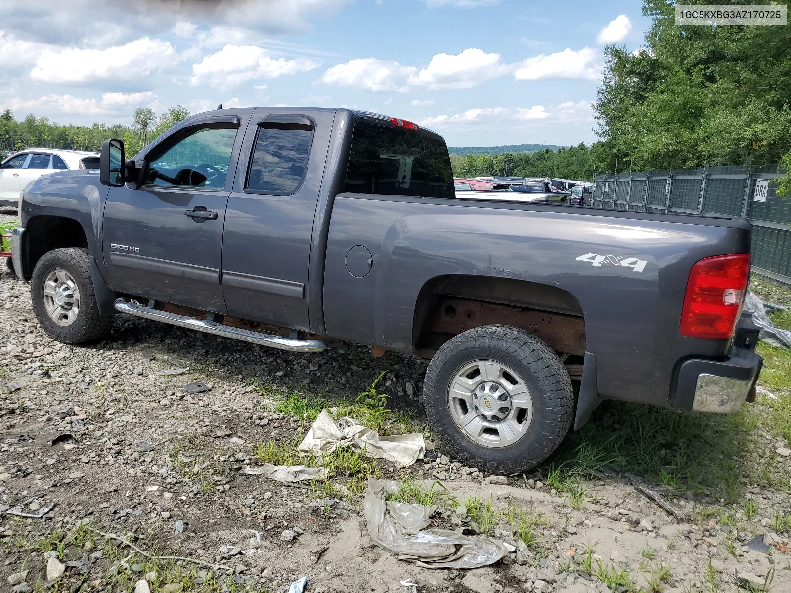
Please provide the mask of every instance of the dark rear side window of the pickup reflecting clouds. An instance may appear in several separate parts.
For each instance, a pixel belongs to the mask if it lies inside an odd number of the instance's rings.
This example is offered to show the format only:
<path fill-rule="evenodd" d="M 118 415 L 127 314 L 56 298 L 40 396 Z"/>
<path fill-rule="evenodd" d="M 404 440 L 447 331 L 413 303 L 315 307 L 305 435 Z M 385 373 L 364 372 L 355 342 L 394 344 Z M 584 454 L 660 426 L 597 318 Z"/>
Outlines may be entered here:
<path fill-rule="evenodd" d="M 263 123 L 258 128 L 245 191 L 292 195 L 308 170 L 313 127 L 302 123 Z"/>

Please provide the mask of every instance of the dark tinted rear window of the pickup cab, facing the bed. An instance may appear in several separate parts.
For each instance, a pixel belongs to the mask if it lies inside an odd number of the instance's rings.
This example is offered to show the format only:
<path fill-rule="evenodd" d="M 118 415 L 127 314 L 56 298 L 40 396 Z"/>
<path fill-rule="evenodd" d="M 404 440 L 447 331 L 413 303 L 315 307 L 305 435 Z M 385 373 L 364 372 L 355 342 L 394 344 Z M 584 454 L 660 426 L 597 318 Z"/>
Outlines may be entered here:
<path fill-rule="evenodd" d="M 358 122 L 344 191 L 455 198 L 448 147 L 429 134 Z"/>

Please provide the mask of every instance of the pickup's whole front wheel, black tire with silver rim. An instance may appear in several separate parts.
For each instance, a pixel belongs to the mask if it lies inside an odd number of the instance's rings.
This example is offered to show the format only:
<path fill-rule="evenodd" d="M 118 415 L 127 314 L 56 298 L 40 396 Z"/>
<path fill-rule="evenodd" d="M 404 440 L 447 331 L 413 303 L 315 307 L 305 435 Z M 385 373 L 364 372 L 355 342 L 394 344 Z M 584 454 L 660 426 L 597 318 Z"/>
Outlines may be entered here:
<path fill-rule="evenodd" d="M 44 332 L 64 344 L 103 338 L 112 323 L 112 315 L 99 312 L 88 258 L 87 249 L 54 249 L 33 270 L 33 311 Z"/>

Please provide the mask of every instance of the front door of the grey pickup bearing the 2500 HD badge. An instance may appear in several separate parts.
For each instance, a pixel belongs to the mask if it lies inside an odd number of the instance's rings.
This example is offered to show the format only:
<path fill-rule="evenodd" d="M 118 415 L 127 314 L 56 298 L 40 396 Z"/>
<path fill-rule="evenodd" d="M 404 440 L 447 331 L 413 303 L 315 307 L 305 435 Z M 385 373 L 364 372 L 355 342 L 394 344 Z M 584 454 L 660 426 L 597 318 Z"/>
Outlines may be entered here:
<path fill-rule="evenodd" d="M 102 243 L 115 290 L 225 313 L 222 227 L 238 130 L 210 122 L 171 134 L 146 154 L 139 189 L 110 188 Z"/>

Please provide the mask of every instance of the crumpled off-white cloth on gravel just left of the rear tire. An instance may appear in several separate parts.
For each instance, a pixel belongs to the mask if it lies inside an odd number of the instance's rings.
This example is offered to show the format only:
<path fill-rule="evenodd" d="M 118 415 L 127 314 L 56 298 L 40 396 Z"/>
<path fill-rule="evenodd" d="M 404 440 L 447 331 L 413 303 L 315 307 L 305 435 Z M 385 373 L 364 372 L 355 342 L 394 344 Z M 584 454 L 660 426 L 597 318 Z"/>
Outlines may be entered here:
<path fill-rule="evenodd" d="M 327 410 L 313 422 L 299 445 L 301 453 L 331 453 L 339 447 L 365 451 L 367 457 L 387 459 L 400 467 L 411 466 L 426 453 L 422 434 L 379 436 L 376 430 L 358 425 L 349 417 L 335 422 Z"/>

